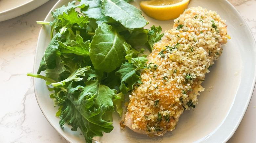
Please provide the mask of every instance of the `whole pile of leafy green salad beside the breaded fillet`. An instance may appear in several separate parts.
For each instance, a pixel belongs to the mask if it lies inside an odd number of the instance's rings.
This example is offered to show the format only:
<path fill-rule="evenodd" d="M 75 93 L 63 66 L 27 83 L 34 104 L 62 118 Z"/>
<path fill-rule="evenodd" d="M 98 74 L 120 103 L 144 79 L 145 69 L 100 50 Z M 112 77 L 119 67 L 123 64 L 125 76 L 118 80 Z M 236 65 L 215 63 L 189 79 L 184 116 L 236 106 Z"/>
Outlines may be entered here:
<path fill-rule="evenodd" d="M 149 22 L 128 2 L 73 1 L 52 11 L 52 22 L 37 22 L 51 26 L 52 40 L 37 74 L 27 75 L 46 80 L 60 126 L 79 128 L 87 143 L 113 130 L 112 113 L 122 115 L 124 94 L 141 83 L 147 58 L 136 48 L 152 50 L 163 36 L 160 26 L 145 29 Z"/>

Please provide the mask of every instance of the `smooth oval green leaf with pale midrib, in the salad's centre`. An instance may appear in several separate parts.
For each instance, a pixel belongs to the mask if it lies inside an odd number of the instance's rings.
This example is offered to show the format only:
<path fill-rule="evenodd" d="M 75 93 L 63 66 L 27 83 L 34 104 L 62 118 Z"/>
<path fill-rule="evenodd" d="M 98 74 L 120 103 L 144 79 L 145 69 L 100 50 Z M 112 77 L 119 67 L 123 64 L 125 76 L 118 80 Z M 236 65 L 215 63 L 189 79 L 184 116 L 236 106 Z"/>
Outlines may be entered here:
<path fill-rule="evenodd" d="M 91 42 L 90 58 L 94 68 L 111 72 L 125 61 L 126 53 L 123 47 L 125 40 L 112 26 L 99 24 Z"/>

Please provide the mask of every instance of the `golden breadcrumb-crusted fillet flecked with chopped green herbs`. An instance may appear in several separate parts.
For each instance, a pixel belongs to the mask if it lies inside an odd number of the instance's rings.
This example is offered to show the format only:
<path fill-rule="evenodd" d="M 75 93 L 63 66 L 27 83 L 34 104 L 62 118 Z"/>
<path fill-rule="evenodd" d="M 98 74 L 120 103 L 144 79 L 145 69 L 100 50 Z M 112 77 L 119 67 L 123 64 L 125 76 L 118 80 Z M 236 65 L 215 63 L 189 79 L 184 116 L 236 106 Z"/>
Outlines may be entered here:
<path fill-rule="evenodd" d="M 173 29 L 155 43 L 131 92 L 124 124 L 135 132 L 163 135 L 172 131 L 184 110 L 195 107 L 208 68 L 230 37 L 224 20 L 201 7 L 188 8 Z"/>

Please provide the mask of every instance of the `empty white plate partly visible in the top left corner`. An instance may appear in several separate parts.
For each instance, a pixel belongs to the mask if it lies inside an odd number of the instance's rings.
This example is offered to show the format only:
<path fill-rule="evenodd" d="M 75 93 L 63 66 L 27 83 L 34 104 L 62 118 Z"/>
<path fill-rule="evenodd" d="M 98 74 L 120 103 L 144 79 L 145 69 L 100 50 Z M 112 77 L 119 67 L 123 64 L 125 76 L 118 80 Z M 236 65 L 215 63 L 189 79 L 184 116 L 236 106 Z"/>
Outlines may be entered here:
<path fill-rule="evenodd" d="M 49 0 L 0 0 L 0 22 L 25 14 Z"/>

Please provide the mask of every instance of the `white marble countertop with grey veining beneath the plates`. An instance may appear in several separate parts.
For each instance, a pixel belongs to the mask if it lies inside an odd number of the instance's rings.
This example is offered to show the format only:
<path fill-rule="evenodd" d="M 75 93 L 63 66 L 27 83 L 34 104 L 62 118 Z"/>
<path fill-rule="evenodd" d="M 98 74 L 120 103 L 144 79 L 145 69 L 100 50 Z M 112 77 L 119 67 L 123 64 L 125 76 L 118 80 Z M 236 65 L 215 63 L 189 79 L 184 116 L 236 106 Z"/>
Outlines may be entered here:
<path fill-rule="evenodd" d="M 256 0 L 228 0 L 243 16 L 256 39 Z M 46 120 L 34 94 L 35 48 L 43 20 L 57 0 L 11 20 L 0 22 L 0 143 L 67 143 Z M 256 91 L 256 90 L 255 90 Z M 228 143 L 256 141 L 256 92 Z"/>

